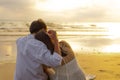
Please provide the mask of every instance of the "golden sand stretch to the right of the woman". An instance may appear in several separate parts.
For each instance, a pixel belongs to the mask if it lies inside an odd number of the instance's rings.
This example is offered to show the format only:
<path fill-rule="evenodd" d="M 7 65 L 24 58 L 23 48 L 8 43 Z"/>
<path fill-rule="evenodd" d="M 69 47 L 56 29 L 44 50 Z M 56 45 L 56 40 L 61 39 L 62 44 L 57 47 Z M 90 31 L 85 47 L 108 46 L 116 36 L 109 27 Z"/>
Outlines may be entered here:
<path fill-rule="evenodd" d="M 120 80 L 120 54 L 80 54 L 78 64 L 95 80 Z"/>

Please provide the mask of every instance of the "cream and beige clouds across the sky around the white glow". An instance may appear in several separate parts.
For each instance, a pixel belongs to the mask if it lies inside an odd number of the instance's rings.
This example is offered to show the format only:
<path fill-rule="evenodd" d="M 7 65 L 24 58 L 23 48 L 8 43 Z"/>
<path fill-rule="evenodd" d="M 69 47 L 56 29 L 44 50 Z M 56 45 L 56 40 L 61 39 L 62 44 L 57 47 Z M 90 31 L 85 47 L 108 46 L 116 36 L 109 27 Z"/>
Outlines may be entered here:
<path fill-rule="evenodd" d="M 52 22 L 104 22 L 120 21 L 118 0 L 93 0 L 91 4 L 61 12 L 36 10 L 36 0 L 0 0 L 1 19 L 43 18 Z M 39 0 L 47 2 L 50 0 Z M 116 4 L 116 5 L 115 5 Z M 62 4 L 61 4 L 62 5 Z M 114 5 L 114 6 L 113 6 Z"/>

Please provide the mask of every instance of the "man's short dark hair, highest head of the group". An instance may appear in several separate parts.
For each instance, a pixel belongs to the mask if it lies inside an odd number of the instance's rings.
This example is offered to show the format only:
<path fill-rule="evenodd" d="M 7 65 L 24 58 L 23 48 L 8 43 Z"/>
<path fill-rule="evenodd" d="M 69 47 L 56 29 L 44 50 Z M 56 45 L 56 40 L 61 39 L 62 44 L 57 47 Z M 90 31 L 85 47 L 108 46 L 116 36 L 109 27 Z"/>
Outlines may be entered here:
<path fill-rule="evenodd" d="M 30 25 L 30 33 L 37 33 L 39 32 L 41 29 L 47 29 L 47 26 L 45 24 L 45 22 L 42 20 L 42 19 L 38 19 L 38 20 L 35 20 L 31 23 Z"/>

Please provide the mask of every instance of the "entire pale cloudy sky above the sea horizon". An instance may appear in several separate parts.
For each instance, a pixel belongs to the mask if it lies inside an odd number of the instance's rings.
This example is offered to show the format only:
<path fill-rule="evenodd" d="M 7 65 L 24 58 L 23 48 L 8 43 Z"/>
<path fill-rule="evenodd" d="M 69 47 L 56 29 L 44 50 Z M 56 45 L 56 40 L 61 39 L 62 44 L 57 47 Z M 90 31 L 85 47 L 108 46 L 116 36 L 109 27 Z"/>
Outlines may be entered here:
<path fill-rule="evenodd" d="M 0 0 L 0 19 L 120 22 L 119 0 Z"/>

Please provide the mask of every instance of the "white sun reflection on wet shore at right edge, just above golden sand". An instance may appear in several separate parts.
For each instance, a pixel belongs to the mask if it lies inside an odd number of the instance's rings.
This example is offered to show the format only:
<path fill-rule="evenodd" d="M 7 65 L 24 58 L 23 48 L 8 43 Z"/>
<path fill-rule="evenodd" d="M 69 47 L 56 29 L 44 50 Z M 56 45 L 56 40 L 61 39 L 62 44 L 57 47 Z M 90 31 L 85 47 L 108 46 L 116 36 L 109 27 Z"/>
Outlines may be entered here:
<path fill-rule="evenodd" d="M 113 44 L 103 49 L 103 52 L 120 52 L 120 45 Z"/>

